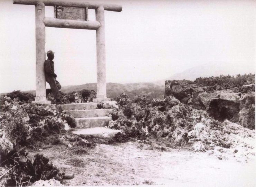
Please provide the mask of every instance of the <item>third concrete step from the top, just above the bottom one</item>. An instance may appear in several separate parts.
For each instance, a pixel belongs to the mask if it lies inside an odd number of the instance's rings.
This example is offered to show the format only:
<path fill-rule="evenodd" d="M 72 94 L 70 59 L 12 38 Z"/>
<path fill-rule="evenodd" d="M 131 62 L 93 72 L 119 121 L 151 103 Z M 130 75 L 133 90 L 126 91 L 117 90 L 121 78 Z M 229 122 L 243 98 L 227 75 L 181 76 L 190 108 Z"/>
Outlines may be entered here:
<path fill-rule="evenodd" d="M 110 120 L 110 117 L 92 117 L 92 118 L 75 118 L 76 128 L 91 128 L 99 126 L 107 126 Z"/>

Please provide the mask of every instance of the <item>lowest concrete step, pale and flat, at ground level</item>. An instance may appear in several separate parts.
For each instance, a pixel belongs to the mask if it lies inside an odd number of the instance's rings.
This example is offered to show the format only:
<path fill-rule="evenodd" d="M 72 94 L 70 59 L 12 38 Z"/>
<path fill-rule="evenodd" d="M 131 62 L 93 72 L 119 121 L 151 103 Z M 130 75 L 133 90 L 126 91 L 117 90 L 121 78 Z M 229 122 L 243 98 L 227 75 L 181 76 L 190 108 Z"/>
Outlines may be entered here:
<path fill-rule="evenodd" d="M 121 130 L 108 129 L 105 127 L 76 129 L 73 131 L 74 134 L 93 135 L 96 137 L 114 137 L 118 132 L 121 132 Z"/>

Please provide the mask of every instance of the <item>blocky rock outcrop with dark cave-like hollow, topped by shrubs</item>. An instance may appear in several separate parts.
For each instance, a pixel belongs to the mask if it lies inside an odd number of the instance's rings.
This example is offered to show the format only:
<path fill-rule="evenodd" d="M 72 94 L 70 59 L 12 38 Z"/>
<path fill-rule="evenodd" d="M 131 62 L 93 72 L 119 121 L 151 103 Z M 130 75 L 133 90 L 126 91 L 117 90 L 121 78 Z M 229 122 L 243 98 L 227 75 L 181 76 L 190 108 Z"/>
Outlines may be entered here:
<path fill-rule="evenodd" d="M 198 110 L 206 110 L 210 117 L 223 122 L 226 119 L 249 129 L 255 129 L 255 92 L 250 94 L 233 90 L 209 91 L 189 80 L 165 81 L 165 97 L 173 96 L 181 103 Z"/>

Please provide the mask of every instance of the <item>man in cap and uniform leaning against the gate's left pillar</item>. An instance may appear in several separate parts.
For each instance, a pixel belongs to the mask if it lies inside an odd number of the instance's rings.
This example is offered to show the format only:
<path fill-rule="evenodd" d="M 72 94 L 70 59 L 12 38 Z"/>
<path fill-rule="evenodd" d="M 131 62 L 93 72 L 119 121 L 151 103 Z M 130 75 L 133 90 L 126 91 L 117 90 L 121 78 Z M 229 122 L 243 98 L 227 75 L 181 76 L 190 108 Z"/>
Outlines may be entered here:
<path fill-rule="evenodd" d="M 61 85 L 56 80 L 57 75 L 54 73 L 54 52 L 50 50 L 46 54 L 48 59 L 45 61 L 45 79 L 51 87 L 51 89 L 46 89 L 46 97 L 50 94 L 50 92 L 52 92 L 56 100 L 56 104 L 64 104 L 59 98 L 59 90 Z"/>

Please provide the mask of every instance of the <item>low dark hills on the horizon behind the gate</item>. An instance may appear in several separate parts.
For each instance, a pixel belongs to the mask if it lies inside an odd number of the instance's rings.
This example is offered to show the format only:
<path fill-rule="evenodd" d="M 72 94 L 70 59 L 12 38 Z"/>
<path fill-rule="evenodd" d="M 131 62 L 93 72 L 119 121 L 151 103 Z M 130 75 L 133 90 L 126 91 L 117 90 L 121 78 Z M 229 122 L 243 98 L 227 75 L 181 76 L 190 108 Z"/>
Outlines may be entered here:
<path fill-rule="evenodd" d="M 88 83 L 77 86 L 63 86 L 61 91 L 64 93 L 78 91 L 82 89 L 88 90 L 97 90 L 96 83 Z M 127 84 L 119 84 L 119 83 L 107 83 L 107 97 L 114 98 L 125 92 L 130 98 L 134 98 L 134 96 L 138 95 L 146 95 L 150 99 L 163 99 L 164 97 L 164 82 L 162 84 L 154 84 L 154 83 L 127 83 Z M 24 91 L 35 95 L 35 90 Z"/>

